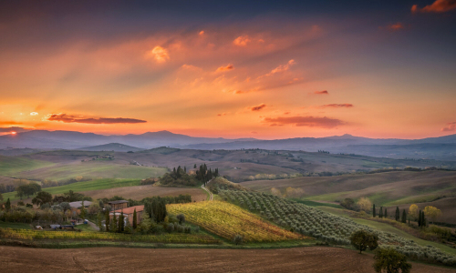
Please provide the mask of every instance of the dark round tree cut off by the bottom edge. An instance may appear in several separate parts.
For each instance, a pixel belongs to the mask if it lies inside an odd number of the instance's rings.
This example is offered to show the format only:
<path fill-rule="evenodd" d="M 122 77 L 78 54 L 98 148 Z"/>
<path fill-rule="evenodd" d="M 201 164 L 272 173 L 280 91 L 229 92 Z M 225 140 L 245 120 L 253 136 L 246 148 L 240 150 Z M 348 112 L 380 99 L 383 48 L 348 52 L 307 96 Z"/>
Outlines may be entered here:
<path fill-rule="evenodd" d="M 405 255 L 393 248 L 377 249 L 374 259 L 374 269 L 378 273 L 409 273 L 411 269 Z"/>

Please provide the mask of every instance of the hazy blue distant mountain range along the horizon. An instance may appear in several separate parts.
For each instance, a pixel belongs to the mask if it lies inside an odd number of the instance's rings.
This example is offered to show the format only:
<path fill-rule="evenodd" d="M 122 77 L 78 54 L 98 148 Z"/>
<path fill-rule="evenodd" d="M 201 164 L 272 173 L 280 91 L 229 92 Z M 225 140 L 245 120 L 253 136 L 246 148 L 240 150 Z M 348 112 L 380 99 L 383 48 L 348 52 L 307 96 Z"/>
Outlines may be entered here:
<path fill-rule="evenodd" d="M 0 148 L 63 148 L 136 151 L 153 147 L 192 149 L 262 148 L 358 154 L 371 157 L 431 158 L 456 161 L 456 135 L 422 139 L 376 139 L 360 136 L 295 137 L 275 140 L 256 138 L 212 138 L 173 134 L 169 131 L 140 135 L 103 136 L 73 131 L 31 130 L 0 136 Z"/>

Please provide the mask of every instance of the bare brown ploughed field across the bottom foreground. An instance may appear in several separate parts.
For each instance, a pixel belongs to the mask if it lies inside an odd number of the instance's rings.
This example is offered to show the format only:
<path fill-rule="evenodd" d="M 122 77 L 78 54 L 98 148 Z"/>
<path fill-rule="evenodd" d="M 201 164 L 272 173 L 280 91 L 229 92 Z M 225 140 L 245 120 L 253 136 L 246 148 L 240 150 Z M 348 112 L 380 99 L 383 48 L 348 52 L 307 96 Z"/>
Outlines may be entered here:
<path fill-rule="evenodd" d="M 2 272 L 375 272 L 372 255 L 344 248 L 40 249 L 0 247 Z M 455 272 L 412 263 L 414 273 Z"/>

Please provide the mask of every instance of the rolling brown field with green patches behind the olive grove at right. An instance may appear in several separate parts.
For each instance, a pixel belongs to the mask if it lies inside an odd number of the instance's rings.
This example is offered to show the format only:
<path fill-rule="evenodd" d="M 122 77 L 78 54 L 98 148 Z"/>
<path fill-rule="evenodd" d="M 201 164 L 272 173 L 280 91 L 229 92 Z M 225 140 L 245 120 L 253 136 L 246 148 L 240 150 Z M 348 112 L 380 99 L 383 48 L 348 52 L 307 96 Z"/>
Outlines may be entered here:
<path fill-rule="evenodd" d="M 456 194 L 456 172 L 396 171 L 378 174 L 344 175 L 337 177 L 297 177 L 283 180 L 258 180 L 241 183 L 245 187 L 270 192 L 271 187 L 300 187 L 302 197 L 337 201 L 344 198 L 371 197 L 376 205 L 409 203 L 404 197 L 417 200 Z M 415 201 L 414 201 L 415 202 Z"/>

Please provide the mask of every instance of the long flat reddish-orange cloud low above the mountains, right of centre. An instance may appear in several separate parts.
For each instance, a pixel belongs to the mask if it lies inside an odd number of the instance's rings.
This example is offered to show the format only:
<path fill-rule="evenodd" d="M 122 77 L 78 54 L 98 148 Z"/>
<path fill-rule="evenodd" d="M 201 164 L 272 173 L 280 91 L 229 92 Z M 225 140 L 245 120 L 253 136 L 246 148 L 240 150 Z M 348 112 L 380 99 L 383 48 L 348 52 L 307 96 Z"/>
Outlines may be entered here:
<path fill-rule="evenodd" d="M 318 116 L 278 116 L 278 117 L 265 117 L 265 123 L 269 123 L 270 126 L 309 126 L 309 127 L 323 127 L 323 128 L 334 128 L 339 125 L 344 125 L 340 119 L 330 117 L 318 117 Z"/>

